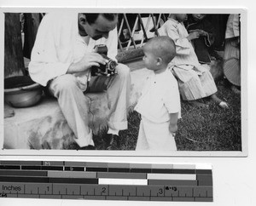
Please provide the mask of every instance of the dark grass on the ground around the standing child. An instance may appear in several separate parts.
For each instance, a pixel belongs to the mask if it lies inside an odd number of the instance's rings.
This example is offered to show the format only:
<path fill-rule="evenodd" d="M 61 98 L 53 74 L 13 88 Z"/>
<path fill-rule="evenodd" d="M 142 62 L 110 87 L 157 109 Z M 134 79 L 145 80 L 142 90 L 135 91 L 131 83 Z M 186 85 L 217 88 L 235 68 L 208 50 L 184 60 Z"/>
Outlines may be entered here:
<path fill-rule="evenodd" d="M 208 108 L 182 101 L 182 118 L 175 137 L 178 151 L 241 151 L 241 95 L 233 93 L 224 79 L 218 81 L 217 87 L 218 97 L 229 103 L 229 110 L 207 99 L 203 101 Z M 139 114 L 131 112 L 128 129 L 119 132 L 119 150 L 135 150 L 139 123 Z M 103 134 L 106 131 L 95 137 L 97 150 L 104 149 Z"/>

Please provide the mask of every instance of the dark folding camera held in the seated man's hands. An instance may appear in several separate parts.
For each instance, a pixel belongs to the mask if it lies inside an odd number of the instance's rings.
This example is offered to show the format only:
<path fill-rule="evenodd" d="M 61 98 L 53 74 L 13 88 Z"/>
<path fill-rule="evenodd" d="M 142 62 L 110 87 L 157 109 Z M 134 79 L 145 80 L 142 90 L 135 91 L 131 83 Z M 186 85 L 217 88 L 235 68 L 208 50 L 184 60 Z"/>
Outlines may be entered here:
<path fill-rule="evenodd" d="M 113 76 L 115 74 L 115 67 L 117 66 L 117 62 L 115 60 L 111 60 L 108 58 L 108 48 L 106 45 L 100 44 L 95 46 L 95 51 L 98 54 L 101 54 L 108 63 L 106 65 L 100 64 L 100 66 L 91 66 L 90 74 L 91 76 L 96 76 L 96 73 L 100 73 L 105 76 Z"/>

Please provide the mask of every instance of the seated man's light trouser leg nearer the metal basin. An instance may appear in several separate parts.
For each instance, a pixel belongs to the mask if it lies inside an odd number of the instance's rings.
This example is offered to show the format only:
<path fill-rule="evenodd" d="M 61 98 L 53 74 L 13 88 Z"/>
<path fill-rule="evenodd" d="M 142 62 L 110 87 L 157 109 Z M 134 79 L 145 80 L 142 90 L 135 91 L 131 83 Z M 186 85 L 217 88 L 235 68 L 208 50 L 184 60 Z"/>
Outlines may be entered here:
<path fill-rule="evenodd" d="M 76 77 L 71 74 L 56 77 L 49 84 L 49 91 L 58 99 L 61 112 L 73 130 L 78 145 L 94 146 L 88 126 L 88 104 L 84 93 L 79 89 Z"/>

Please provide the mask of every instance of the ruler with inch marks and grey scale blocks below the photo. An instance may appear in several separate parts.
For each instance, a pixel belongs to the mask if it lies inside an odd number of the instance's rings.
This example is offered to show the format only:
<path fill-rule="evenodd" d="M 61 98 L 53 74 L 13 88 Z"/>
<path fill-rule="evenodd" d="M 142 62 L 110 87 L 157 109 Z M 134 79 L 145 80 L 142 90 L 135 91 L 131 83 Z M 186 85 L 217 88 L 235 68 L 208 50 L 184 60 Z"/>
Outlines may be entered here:
<path fill-rule="evenodd" d="M 212 202 L 212 166 L 0 161 L 0 197 Z"/>

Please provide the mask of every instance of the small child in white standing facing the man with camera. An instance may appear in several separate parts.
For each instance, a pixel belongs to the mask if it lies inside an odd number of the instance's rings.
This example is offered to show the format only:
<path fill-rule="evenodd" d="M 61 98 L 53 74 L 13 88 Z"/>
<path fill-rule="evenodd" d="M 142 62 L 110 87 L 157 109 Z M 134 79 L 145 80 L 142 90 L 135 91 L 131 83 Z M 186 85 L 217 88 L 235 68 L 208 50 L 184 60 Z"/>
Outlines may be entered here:
<path fill-rule="evenodd" d="M 153 72 L 135 107 L 142 116 L 137 151 L 177 151 L 174 135 L 180 115 L 180 96 L 177 80 L 167 69 L 175 50 L 170 37 L 154 37 L 143 46 L 145 66 Z"/>

